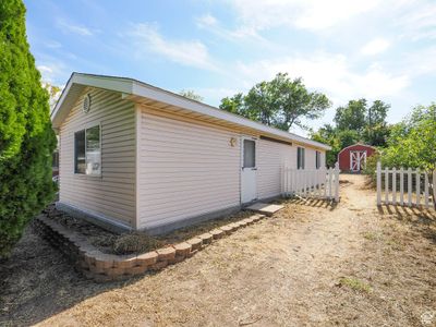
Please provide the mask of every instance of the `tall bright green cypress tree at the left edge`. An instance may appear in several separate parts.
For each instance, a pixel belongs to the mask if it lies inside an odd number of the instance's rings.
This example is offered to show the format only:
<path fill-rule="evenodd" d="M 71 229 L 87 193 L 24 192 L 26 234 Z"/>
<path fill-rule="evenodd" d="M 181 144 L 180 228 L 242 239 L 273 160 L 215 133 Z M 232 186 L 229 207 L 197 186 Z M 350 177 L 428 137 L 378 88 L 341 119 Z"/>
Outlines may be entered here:
<path fill-rule="evenodd" d="M 52 198 L 56 137 L 29 52 L 22 0 L 0 1 L 0 257 Z"/>

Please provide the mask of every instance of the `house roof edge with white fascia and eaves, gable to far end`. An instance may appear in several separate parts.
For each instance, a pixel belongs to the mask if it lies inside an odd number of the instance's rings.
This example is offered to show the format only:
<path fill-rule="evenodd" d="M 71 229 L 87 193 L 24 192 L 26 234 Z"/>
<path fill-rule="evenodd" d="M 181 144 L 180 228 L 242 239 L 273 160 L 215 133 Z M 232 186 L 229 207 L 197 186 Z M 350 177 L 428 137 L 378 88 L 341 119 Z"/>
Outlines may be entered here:
<path fill-rule="evenodd" d="M 205 105 L 203 102 L 185 98 L 172 92 L 140 82 L 128 77 L 93 75 L 84 73 L 73 73 L 66 83 L 55 109 L 51 112 L 51 122 L 53 129 L 59 129 L 66 118 L 70 109 L 73 107 L 78 96 L 86 87 L 97 87 L 112 92 L 119 92 L 123 98 L 137 102 L 154 102 L 166 105 L 166 108 L 178 108 L 184 111 L 195 113 L 195 117 L 207 117 L 214 122 L 228 123 L 231 126 L 241 126 L 246 130 L 255 130 L 264 133 L 266 136 L 277 137 L 279 140 L 296 142 L 310 145 L 325 150 L 331 149 L 330 146 L 289 133 L 276 128 L 267 126 L 256 121 L 252 121 L 239 114 L 234 114 L 219 108 Z M 161 107 L 164 108 L 164 107 Z"/>

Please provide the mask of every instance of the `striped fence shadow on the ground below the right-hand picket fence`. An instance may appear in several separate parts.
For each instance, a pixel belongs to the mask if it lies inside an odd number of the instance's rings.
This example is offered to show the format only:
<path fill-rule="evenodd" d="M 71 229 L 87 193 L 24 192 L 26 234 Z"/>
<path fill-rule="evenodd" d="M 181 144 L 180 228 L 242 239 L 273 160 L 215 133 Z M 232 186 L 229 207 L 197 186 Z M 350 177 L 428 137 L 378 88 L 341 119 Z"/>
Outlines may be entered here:
<path fill-rule="evenodd" d="M 436 244 L 436 210 L 400 205 L 377 206 L 378 213 L 412 226 L 424 238 Z"/>

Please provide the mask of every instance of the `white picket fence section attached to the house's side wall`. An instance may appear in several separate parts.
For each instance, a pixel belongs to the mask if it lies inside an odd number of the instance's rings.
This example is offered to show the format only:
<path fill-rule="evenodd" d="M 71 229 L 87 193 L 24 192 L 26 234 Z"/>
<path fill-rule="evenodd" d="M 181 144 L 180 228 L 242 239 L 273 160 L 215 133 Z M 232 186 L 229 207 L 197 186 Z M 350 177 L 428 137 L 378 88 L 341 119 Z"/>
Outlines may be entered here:
<path fill-rule="evenodd" d="M 327 198 L 339 202 L 339 164 L 335 168 L 283 168 L 282 195 Z"/>

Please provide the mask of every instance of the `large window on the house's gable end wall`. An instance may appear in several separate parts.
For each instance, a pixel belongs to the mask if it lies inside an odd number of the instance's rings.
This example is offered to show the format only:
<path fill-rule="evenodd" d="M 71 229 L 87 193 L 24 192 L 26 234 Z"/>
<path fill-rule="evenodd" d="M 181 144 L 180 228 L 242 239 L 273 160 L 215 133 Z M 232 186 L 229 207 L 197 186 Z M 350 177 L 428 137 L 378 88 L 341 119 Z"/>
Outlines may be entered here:
<path fill-rule="evenodd" d="M 101 173 L 99 125 L 74 134 L 74 172 L 90 175 Z"/>

